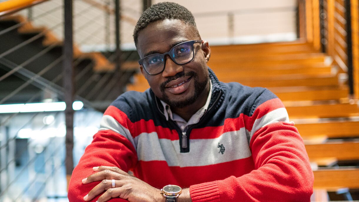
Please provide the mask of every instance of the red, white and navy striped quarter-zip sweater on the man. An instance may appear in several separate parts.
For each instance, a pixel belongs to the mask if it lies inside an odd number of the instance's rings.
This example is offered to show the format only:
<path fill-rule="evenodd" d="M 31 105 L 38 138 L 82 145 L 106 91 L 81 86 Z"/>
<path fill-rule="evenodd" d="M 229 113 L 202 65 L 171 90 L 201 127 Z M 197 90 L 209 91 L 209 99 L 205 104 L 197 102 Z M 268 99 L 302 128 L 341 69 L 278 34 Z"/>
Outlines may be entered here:
<path fill-rule="evenodd" d="M 194 202 L 309 201 L 313 172 L 283 103 L 265 88 L 222 83 L 209 72 L 209 109 L 186 131 L 165 119 L 151 89 L 119 96 L 73 171 L 69 200 L 82 201 L 98 182 L 81 179 L 107 165 L 156 188 L 190 187 Z"/>

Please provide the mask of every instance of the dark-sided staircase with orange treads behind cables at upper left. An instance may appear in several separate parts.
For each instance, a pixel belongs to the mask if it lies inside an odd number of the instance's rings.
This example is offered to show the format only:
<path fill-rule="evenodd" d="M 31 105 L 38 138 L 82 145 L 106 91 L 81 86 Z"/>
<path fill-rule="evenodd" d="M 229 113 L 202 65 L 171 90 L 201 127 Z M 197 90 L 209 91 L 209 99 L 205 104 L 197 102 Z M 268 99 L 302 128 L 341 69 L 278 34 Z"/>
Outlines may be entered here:
<path fill-rule="evenodd" d="M 47 88 L 60 92 L 63 42 L 52 30 L 33 26 L 22 15 L 10 15 L 0 19 L 1 32 L 4 32 L 0 36 L 1 41 L 6 43 L 0 46 L 0 104 L 27 102 L 34 94 L 42 94 Z M 133 52 L 123 53 L 123 58 Z M 115 63 L 111 62 L 114 59 L 113 55 L 107 58 L 101 52 L 81 52 L 74 45 L 76 99 L 104 111 L 123 92 L 123 87 L 137 70 L 138 64 L 131 61 L 123 63 L 120 72 L 123 77 L 118 82 Z M 17 71 L 7 75 L 14 68 Z M 24 73 L 29 74 L 28 77 Z M 31 77 L 35 79 L 24 86 L 24 81 L 31 80 Z M 37 96 L 32 102 L 40 102 L 42 98 Z"/>

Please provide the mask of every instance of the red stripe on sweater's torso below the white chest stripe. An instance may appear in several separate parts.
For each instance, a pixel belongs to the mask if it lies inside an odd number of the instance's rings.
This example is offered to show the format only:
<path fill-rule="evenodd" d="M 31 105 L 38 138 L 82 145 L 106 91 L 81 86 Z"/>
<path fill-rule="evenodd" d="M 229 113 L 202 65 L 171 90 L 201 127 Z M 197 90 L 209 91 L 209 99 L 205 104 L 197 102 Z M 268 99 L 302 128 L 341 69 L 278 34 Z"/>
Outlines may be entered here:
<path fill-rule="evenodd" d="M 138 161 L 134 174 L 156 188 L 162 188 L 168 184 L 189 187 L 193 184 L 225 179 L 231 175 L 239 177 L 250 173 L 253 169 L 252 157 L 192 167 L 169 167 L 165 161 Z"/>

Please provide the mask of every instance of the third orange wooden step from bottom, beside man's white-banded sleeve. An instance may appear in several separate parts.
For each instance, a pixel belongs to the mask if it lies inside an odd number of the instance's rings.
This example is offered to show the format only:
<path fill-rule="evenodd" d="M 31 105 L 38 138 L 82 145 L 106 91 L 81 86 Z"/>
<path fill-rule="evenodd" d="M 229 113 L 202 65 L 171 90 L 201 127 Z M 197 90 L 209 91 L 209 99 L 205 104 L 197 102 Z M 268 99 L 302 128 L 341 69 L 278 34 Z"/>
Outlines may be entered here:
<path fill-rule="evenodd" d="M 295 124 L 295 127 L 297 127 L 300 136 L 303 138 L 316 136 L 326 136 L 328 138 L 359 137 L 359 121 Z"/>

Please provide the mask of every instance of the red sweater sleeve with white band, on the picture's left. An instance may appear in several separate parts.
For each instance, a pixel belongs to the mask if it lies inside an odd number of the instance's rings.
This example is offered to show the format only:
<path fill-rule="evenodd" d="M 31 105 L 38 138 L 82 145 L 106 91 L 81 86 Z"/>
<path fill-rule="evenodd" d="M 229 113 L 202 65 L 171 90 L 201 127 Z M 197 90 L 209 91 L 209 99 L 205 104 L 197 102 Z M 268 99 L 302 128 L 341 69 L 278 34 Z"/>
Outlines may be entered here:
<path fill-rule="evenodd" d="M 99 182 L 82 184 L 81 180 L 95 173 L 94 166 L 116 166 L 128 171 L 137 162 L 134 140 L 130 134 L 131 121 L 125 113 L 115 106 L 109 106 L 101 120 L 100 129 L 92 143 L 86 147 L 84 155 L 75 167 L 69 184 L 70 202 L 84 201 L 83 197 Z M 101 196 L 101 195 L 99 195 Z M 98 197 L 91 201 L 97 201 Z M 125 202 L 121 198 L 109 201 Z"/>

